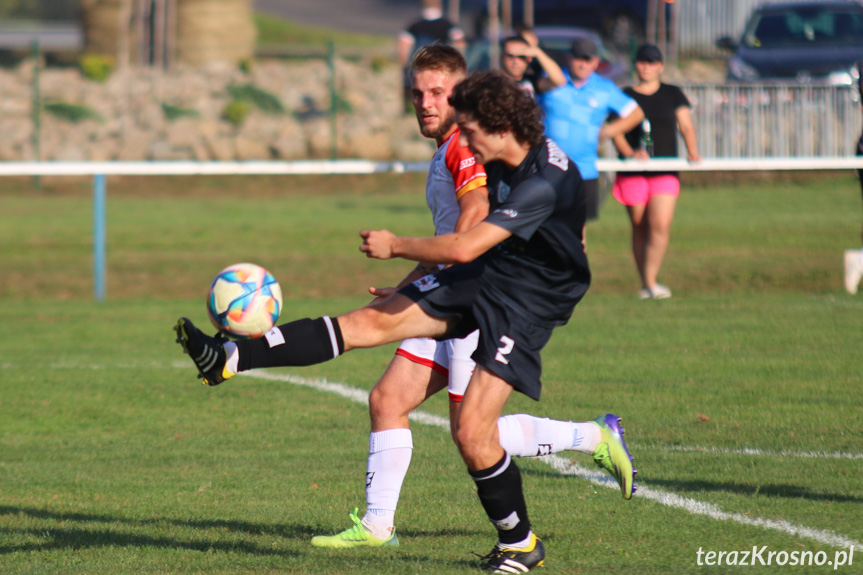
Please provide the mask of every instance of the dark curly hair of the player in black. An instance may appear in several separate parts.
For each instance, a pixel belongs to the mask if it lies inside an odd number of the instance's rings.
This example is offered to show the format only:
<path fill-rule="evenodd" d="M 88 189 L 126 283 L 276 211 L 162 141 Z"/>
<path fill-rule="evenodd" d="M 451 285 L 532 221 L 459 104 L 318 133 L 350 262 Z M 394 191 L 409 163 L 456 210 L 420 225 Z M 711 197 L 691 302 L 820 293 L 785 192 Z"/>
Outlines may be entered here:
<path fill-rule="evenodd" d="M 545 140 L 545 125 L 533 97 L 498 71 L 475 72 L 456 84 L 450 103 L 473 116 L 491 134 L 512 132 L 531 147 Z"/>

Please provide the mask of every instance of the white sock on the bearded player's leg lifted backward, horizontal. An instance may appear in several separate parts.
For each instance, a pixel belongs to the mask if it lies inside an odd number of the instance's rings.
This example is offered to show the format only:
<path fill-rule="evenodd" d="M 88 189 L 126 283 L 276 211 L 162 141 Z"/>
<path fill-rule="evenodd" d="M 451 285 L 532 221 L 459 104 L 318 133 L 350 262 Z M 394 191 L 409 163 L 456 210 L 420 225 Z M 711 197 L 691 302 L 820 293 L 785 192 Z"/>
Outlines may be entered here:
<path fill-rule="evenodd" d="M 575 450 L 593 455 L 599 445 L 600 431 L 592 421 L 558 421 L 524 413 L 497 420 L 500 444 L 516 457 L 539 457 Z"/>

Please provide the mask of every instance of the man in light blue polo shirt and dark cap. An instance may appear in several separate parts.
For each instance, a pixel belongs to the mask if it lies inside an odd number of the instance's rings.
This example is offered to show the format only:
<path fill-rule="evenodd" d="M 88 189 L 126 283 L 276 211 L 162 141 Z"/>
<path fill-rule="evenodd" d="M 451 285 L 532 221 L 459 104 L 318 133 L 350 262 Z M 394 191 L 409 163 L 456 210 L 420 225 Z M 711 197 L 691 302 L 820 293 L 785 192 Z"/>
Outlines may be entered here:
<path fill-rule="evenodd" d="M 599 142 L 625 134 L 641 123 L 644 112 L 638 104 L 596 73 L 599 49 L 590 38 L 573 42 L 567 82 L 539 97 L 545 112 L 546 135 L 572 158 L 584 179 L 587 219 L 599 216 L 599 172 L 596 158 Z M 608 117 L 617 117 L 606 122 Z"/>

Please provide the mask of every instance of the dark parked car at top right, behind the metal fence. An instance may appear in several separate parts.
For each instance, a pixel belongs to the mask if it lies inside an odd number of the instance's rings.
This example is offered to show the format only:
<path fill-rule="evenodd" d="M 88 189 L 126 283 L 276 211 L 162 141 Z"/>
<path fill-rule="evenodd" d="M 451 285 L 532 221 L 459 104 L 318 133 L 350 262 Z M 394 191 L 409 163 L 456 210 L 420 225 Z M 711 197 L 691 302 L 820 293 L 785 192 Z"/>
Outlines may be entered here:
<path fill-rule="evenodd" d="M 850 85 L 863 60 L 863 5 L 854 0 L 763 4 L 749 18 L 732 50 L 728 80 Z"/>

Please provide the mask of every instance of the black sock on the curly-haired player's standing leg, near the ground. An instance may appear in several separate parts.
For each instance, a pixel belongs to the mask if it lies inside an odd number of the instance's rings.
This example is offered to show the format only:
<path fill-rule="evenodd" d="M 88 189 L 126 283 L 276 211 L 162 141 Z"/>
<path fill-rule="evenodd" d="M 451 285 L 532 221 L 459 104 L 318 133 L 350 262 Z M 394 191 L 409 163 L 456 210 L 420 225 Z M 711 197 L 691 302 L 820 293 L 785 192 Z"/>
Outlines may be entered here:
<path fill-rule="evenodd" d="M 469 471 L 489 520 L 497 528 L 501 543 L 518 543 L 530 533 L 527 504 L 521 488 L 521 472 L 515 461 L 503 459 L 488 469 Z"/>

